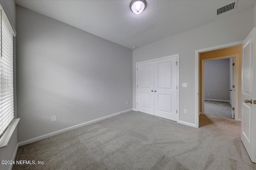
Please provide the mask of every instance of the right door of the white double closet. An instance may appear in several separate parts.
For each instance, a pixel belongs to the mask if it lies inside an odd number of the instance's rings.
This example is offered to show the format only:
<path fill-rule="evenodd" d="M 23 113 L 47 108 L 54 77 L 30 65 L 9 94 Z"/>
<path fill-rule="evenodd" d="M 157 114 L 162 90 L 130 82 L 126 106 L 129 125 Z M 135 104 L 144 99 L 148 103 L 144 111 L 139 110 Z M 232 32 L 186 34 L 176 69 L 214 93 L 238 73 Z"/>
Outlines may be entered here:
<path fill-rule="evenodd" d="M 177 58 L 154 61 L 154 115 L 177 121 Z"/>

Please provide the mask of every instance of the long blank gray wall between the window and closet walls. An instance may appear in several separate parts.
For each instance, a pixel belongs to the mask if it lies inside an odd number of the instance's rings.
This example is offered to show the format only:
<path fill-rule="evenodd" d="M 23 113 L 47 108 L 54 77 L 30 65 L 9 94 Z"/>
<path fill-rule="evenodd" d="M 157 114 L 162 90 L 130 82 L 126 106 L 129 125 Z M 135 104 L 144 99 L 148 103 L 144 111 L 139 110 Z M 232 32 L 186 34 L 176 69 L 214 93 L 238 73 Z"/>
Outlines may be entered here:
<path fill-rule="evenodd" d="M 132 109 L 131 49 L 20 6 L 16 14 L 19 142 Z"/>

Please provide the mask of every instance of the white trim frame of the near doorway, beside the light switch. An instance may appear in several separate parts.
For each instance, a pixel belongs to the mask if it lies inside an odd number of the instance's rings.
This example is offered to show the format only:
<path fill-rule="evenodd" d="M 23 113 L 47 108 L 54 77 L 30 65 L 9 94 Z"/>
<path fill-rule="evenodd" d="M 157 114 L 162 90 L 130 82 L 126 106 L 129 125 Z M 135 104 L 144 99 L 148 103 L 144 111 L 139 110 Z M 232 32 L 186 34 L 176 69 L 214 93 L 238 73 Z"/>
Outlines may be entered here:
<path fill-rule="evenodd" d="M 236 45 L 242 45 L 243 41 L 236 41 L 234 43 L 227 43 L 227 44 L 222 44 L 222 45 L 217 45 L 217 46 L 213 46 L 213 47 L 208 47 L 208 48 L 204 48 L 204 49 L 198 49 L 195 51 L 195 56 L 196 56 L 196 60 L 195 60 L 195 127 L 199 127 L 199 53 L 202 52 L 207 52 L 207 51 L 213 51 L 213 50 L 218 50 L 218 49 L 224 49 L 227 47 L 233 47 Z"/>

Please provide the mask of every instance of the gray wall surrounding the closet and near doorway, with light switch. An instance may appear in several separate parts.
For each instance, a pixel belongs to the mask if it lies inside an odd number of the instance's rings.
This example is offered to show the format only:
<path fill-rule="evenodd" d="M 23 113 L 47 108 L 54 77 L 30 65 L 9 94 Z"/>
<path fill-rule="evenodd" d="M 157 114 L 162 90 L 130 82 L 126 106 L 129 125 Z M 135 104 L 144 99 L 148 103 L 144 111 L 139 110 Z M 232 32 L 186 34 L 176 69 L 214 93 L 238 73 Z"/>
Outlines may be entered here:
<path fill-rule="evenodd" d="M 242 41 L 253 28 L 253 8 L 133 50 L 133 108 L 136 108 L 136 63 L 180 54 L 180 120 L 195 123 L 195 50 Z M 171 28 L 170 28 L 171 29 Z M 188 83 L 182 88 L 182 83 Z M 187 114 L 183 113 L 188 109 Z"/>

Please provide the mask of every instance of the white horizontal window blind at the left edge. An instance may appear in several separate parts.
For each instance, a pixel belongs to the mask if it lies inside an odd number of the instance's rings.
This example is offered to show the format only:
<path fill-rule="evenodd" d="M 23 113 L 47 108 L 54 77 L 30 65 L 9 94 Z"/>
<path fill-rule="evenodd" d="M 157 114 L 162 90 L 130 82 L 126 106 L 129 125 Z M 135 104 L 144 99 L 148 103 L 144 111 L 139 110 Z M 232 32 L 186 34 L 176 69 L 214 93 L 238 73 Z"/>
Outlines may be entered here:
<path fill-rule="evenodd" d="M 0 136 L 2 136 L 14 119 L 13 31 L 2 9 L 0 30 Z"/>

